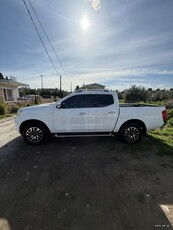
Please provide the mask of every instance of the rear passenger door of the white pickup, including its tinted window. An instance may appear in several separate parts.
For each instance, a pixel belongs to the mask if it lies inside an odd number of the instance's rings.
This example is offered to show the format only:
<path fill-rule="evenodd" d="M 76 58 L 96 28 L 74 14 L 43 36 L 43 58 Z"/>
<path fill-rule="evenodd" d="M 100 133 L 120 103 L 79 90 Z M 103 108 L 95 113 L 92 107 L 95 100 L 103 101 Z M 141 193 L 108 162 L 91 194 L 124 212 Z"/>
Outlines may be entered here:
<path fill-rule="evenodd" d="M 91 94 L 88 130 L 111 132 L 118 117 L 117 107 L 111 94 Z"/>

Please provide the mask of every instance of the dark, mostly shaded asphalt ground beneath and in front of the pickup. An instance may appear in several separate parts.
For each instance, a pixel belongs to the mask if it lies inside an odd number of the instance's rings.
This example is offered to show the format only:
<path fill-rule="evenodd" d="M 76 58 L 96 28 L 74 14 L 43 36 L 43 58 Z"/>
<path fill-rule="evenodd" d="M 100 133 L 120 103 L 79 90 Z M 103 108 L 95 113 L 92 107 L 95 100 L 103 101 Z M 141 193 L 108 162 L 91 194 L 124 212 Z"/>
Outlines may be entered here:
<path fill-rule="evenodd" d="M 148 139 L 27 145 L 0 124 L 0 230 L 173 229 L 173 158 Z"/>

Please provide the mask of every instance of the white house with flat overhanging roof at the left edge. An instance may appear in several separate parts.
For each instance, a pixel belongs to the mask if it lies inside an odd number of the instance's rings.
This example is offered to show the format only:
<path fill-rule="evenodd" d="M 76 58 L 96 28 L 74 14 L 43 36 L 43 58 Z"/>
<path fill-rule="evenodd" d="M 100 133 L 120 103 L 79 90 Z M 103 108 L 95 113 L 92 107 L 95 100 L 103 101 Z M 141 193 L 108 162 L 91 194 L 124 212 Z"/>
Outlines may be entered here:
<path fill-rule="evenodd" d="M 4 101 L 17 101 L 19 86 L 27 87 L 27 84 L 17 82 L 15 78 L 0 79 L 0 99 Z"/>

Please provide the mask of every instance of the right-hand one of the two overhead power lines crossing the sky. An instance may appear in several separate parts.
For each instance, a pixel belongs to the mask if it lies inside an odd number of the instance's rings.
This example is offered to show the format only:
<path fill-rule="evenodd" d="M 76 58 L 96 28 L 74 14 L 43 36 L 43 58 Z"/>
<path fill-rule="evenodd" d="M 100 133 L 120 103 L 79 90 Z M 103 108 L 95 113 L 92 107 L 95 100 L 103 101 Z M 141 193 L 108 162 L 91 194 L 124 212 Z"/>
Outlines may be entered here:
<path fill-rule="evenodd" d="M 49 42 L 49 44 L 50 44 L 50 46 L 51 46 L 51 48 L 52 48 L 52 50 L 53 50 L 55 56 L 56 56 L 56 58 L 57 58 L 59 64 L 61 65 L 61 67 L 62 67 L 62 69 L 63 69 L 63 71 L 64 71 L 66 77 L 67 77 L 68 80 L 70 81 L 70 78 L 69 78 L 68 74 L 66 73 L 66 71 L 65 71 L 65 69 L 64 69 L 64 66 L 63 66 L 63 64 L 61 63 L 60 58 L 58 57 L 57 52 L 55 51 L 55 49 L 54 49 L 54 47 L 53 47 L 53 45 L 52 45 L 52 43 L 51 43 L 51 41 L 50 41 L 50 39 L 49 39 L 49 37 L 48 37 L 48 35 L 47 35 L 47 33 L 46 33 L 46 31 L 45 31 L 45 29 L 44 29 L 44 27 L 43 27 L 43 25 L 42 25 L 42 23 L 41 23 L 41 21 L 40 21 L 38 15 L 37 15 L 37 13 L 36 13 L 36 11 L 35 11 L 35 9 L 34 9 L 32 3 L 31 3 L 31 1 L 28 0 L 28 2 L 29 2 L 29 4 L 30 4 L 30 6 L 31 6 L 31 8 L 32 8 L 32 10 L 33 10 L 33 12 L 34 12 L 34 14 L 35 14 L 35 16 L 36 16 L 36 18 L 37 18 L 37 20 L 38 20 L 40 26 L 41 26 L 43 32 L 44 32 L 44 35 L 46 36 L 46 38 L 47 38 L 47 40 L 48 40 L 48 42 Z M 70 83 L 71 83 L 71 81 L 70 81 Z"/>

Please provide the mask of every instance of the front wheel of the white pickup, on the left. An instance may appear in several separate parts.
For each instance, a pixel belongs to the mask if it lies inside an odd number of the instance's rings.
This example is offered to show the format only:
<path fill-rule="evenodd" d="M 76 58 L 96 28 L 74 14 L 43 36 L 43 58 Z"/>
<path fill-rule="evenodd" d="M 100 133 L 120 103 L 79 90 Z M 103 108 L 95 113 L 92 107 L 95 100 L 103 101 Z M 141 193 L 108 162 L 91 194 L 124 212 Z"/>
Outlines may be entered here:
<path fill-rule="evenodd" d="M 45 125 L 33 122 L 24 127 L 22 136 L 28 144 L 39 145 L 49 139 L 50 133 Z"/>

